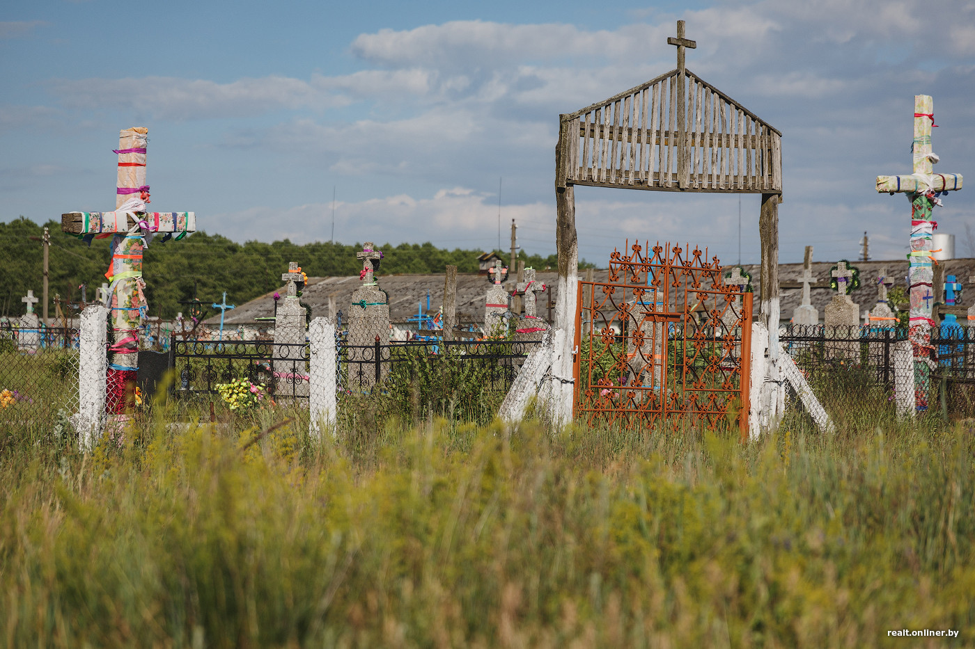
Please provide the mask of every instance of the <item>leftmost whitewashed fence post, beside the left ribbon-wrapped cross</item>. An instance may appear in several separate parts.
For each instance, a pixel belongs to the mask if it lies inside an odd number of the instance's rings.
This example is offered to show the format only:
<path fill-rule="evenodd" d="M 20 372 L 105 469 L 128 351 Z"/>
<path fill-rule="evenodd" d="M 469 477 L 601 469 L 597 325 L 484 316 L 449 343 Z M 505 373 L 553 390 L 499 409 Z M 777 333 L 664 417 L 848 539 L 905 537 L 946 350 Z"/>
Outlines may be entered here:
<path fill-rule="evenodd" d="M 105 418 L 105 381 L 108 373 L 108 309 L 100 304 L 81 312 L 78 340 L 78 415 L 75 429 L 82 450 L 95 447 Z"/>

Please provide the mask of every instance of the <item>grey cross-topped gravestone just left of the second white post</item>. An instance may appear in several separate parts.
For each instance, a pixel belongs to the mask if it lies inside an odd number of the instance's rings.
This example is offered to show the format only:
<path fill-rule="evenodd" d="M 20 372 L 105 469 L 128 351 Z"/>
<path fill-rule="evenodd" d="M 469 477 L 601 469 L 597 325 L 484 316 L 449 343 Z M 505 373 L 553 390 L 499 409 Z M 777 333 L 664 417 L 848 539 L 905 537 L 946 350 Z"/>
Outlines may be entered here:
<path fill-rule="evenodd" d="M 277 399 L 308 396 L 308 372 L 305 368 L 304 344 L 307 339 L 305 308 L 298 295 L 304 287 L 304 275 L 293 261 L 281 276 L 285 296 L 278 303 L 274 317 L 274 395 Z M 296 346 L 299 345 L 299 346 Z"/>

